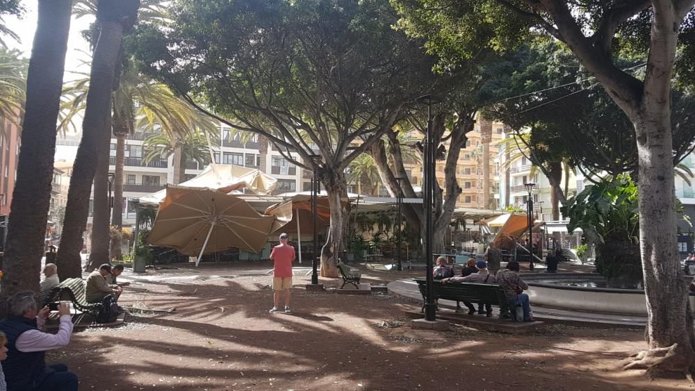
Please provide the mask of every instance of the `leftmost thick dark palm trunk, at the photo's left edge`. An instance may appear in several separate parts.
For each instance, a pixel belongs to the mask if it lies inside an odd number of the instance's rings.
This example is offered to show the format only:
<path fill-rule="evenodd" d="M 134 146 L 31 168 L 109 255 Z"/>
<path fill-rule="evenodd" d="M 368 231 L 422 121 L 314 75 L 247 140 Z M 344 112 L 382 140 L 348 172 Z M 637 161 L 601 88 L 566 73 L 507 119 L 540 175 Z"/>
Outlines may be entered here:
<path fill-rule="evenodd" d="M 26 78 L 22 149 L 3 263 L 3 298 L 21 290 L 39 291 L 71 11 L 71 0 L 38 2 L 38 23 Z"/>

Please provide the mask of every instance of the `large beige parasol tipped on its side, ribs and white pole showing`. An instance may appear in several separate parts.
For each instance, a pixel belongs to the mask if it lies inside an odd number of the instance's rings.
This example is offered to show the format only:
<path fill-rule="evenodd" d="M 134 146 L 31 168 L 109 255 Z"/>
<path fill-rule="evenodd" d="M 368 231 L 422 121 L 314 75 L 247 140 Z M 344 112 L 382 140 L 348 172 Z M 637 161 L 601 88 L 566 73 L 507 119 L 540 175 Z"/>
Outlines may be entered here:
<path fill-rule="evenodd" d="M 231 247 L 259 252 L 275 217 L 259 215 L 246 201 L 207 188 L 169 185 L 149 234 L 149 243 L 173 247 L 188 256 Z"/>

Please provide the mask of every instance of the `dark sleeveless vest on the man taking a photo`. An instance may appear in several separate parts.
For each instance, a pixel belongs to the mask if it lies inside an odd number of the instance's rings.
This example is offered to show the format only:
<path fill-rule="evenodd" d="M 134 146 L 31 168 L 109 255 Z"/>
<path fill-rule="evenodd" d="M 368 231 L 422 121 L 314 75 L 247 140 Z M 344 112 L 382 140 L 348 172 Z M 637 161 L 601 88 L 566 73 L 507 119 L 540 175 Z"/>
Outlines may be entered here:
<path fill-rule="evenodd" d="M 7 360 L 2 362 L 8 391 L 31 390 L 48 375 L 45 352 L 24 353 L 17 350 L 17 338 L 25 331 L 38 330 L 36 319 L 10 317 L 0 321 L 0 330 L 7 336 Z"/>

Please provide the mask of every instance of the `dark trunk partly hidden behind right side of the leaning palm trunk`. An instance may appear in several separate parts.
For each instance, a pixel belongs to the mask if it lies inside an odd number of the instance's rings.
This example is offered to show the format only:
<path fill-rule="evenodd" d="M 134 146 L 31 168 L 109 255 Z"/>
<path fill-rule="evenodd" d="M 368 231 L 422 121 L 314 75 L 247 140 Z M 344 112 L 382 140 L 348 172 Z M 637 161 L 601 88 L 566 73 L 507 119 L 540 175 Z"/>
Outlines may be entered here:
<path fill-rule="evenodd" d="M 109 105 L 111 107 L 111 105 Z M 111 116 L 108 116 L 111 119 Z M 108 121 L 111 125 L 111 121 Z M 109 126 L 111 128 L 111 126 Z M 103 263 L 111 263 L 108 247 L 111 244 L 111 229 L 108 226 L 110 208 L 108 205 L 108 144 L 111 132 L 104 132 L 99 141 L 97 171 L 94 175 L 94 203 L 92 204 L 92 238 L 91 251 L 85 272 L 92 272 Z"/>

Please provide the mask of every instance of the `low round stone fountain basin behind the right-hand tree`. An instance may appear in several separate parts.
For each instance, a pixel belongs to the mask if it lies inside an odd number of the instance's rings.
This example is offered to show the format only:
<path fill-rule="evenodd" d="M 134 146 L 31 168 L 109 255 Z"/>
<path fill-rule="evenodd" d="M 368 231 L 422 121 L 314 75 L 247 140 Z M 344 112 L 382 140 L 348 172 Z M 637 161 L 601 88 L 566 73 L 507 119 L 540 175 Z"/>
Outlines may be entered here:
<path fill-rule="evenodd" d="M 531 303 L 538 306 L 579 310 L 591 313 L 647 315 L 644 290 L 607 288 L 606 280 L 596 273 L 528 273 Z M 683 278 L 688 285 L 692 278 Z M 690 308 L 695 310 L 691 293 Z"/>

